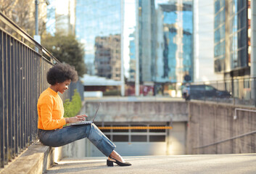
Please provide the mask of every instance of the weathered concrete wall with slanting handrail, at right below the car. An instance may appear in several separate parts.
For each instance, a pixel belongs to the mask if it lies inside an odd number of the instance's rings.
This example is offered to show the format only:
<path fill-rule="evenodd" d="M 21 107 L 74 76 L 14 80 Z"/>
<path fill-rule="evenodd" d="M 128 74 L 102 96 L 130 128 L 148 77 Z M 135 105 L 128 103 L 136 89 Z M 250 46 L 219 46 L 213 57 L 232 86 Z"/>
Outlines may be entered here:
<path fill-rule="evenodd" d="M 223 141 L 256 130 L 256 113 L 237 111 L 234 105 L 189 102 L 187 154 L 236 154 L 256 152 L 256 133 Z M 239 107 L 255 110 L 255 108 Z M 219 144 L 213 144 L 223 141 Z M 206 146 L 213 144 L 211 146 Z M 196 148 L 199 146 L 206 146 Z"/>

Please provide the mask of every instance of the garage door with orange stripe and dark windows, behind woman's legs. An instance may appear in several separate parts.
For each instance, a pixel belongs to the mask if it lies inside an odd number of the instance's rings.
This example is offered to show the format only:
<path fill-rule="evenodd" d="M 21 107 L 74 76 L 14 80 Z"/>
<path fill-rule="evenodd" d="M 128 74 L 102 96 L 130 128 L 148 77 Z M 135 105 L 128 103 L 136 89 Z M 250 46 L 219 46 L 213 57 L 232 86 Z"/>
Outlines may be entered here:
<path fill-rule="evenodd" d="M 123 156 L 165 155 L 169 123 L 96 123 L 117 146 Z M 168 127 L 169 126 L 169 127 Z M 87 157 L 102 157 L 90 141 L 86 141 Z"/>

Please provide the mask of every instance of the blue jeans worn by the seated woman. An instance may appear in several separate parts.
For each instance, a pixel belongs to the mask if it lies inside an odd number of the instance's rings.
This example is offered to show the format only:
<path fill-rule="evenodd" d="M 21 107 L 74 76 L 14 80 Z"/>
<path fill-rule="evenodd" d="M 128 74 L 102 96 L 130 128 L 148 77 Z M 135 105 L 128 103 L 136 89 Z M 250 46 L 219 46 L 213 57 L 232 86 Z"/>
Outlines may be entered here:
<path fill-rule="evenodd" d="M 109 157 L 115 149 L 115 144 L 94 123 L 88 125 L 70 125 L 56 130 L 38 129 L 38 137 L 42 144 L 53 147 L 64 146 L 73 141 L 88 138 L 106 157 Z"/>

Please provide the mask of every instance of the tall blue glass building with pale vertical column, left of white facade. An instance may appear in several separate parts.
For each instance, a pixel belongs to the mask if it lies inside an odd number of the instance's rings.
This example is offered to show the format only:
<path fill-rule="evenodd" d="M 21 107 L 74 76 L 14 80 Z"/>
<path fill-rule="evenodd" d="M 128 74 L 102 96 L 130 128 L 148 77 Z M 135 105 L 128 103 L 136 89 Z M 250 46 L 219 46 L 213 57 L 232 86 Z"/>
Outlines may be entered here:
<path fill-rule="evenodd" d="M 183 83 L 193 78 L 192 1 L 139 1 L 140 80 Z M 191 79 L 192 80 L 192 79 Z"/>

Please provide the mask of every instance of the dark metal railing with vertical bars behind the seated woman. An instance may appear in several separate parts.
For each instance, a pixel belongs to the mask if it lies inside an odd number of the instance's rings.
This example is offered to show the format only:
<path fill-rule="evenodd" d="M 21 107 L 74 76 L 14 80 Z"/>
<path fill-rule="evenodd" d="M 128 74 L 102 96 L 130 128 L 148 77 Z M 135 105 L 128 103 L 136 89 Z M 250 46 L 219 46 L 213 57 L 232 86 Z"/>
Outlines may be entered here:
<path fill-rule="evenodd" d="M 37 99 L 48 88 L 46 72 L 59 61 L 1 12 L 0 22 L 16 33 L 0 28 L 0 167 L 4 167 L 37 140 Z"/>

